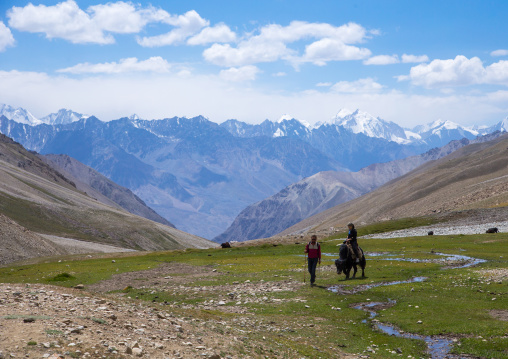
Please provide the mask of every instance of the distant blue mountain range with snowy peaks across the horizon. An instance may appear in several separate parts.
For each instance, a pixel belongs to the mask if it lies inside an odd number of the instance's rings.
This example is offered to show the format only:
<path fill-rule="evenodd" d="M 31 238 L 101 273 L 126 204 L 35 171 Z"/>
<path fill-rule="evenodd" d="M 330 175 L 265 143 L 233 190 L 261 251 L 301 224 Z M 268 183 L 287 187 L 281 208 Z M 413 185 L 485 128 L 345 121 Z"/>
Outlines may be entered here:
<path fill-rule="evenodd" d="M 252 203 L 318 172 L 359 171 L 491 130 L 447 121 L 408 130 L 359 110 L 341 110 L 311 126 L 290 116 L 257 125 L 219 125 L 202 116 L 102 122 L 70 110 L 42 121 L 2 108 L 0 132 L 30 150 L 77 159 L 129 188 L 177 228 L 205 238 L 223 233 Z M 496 126 L 507 125 L 505 119 Z"/>

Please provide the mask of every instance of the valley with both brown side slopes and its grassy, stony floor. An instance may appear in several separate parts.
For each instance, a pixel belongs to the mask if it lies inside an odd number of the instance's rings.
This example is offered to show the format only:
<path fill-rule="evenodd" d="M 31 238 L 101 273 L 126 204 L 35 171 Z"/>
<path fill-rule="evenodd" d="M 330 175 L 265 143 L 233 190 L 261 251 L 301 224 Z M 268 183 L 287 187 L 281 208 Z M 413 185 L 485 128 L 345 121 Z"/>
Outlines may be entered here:
<path fill-rule="evenodd" d="M 452 143 L 229 249 L 70 157 L 2 136 L 0 355 L 508 358 L 507 136 Z M 334 260 L 349 221 L 367 267 L 346 281 Z M 496 224 L 501 233 L 483 233 Z M 439 232 L 461 225 L 482 233 Z M 303 255 L 311 234 L 323 251 L 316 286 Z"/>

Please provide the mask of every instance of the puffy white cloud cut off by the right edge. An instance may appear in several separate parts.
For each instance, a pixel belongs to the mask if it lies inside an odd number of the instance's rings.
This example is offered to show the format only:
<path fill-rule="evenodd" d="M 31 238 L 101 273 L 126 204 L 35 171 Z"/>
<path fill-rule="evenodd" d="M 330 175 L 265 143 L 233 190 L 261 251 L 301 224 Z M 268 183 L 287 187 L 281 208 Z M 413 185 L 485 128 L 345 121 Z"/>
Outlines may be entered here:
<path fill-rule="evenodd" d="M 508 61 L 499 61 L 487 67 L 478 57 L 468 59 L 459 55 L 455 59 L 433 60 L 411 68 L 409 75 L 399 76 L 399 81 L 427 88 L 499 84 L 508 86 Z"/>

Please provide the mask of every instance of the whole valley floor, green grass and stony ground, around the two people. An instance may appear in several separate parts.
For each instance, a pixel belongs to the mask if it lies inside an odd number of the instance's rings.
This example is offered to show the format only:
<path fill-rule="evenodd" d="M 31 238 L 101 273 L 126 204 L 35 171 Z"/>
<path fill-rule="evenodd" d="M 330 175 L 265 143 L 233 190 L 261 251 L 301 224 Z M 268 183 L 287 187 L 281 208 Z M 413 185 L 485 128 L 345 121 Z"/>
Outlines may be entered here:
<path fill-rule="evenodd" d="M 447 341 L 450 352 L 436 358 L 508 358 L 508 234 L 363 239 L 366 278 L 349 281 L 333 266 L 341 240 L 321 243 L 315 287 L 304 243 L 0 268 L 0 350 L 27 358 L 430 357 L 425 341 L 404 332 Z"/>

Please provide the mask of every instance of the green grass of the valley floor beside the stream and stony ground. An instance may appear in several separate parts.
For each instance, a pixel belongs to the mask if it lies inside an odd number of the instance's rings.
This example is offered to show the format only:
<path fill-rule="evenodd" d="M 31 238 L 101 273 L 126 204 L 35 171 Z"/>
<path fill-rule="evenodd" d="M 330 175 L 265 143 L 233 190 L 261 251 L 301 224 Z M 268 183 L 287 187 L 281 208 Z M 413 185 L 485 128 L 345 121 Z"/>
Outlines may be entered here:
<path fill-rule="evenodd" d="M 385 223 L 383 226 L 399 229 L 401 226 L 416 223 L 422 224 L 416 220 L 403 220 Z M 361 228 L 360 232 L 364 234 L 367 230 L 378 231 L 380 228 L 379 224 L 376 224 L 371 229 Z M 336 254 L 338 243 L 340 241 L 334 238 L 323 240 L 323 252 Z M 487 280 L 479 272 L 483 269 L 508 268 L 508 234 L 360 239 L 360 245 L 367 253 L 389 253 L 395 255 L 393 258 L 432 259 L 436 258 L 432 253 L 434 251 L 482 258 L 488 262 L 473 268 L 443 269 L 443 265 L 438 263 L 413 263 L 371 257 L 367 262 L 367 278 L 347 282 L 343 280 L 344 276 L 338 277 L 334 271 L 321 270 L 318 273 L 317 287 L 304 286 L 295 291 L 261 293 L 259 296 L 266 296 L 267 300 L 242 303 L 243 308 L 253 313 L 249 317 L 255 318 L 260 325 L 256 330 L 248 330 L 242 334 L 247 339 L 234 350 L 269 357 L 277 353 L 278 357 L 287 358 L 334 358 L 338 351 L 358 354 L 363 353 L 367 347 L 376 345 L 375 353 L 364 354 L 369 354 L 371 358 L 393 358 L 398 357 L 398 353 L 393 354 L 392 351 L 398 350 L 405 358 L 426 357 L 426 346 L 422 341 L 381 333 L 367 320 L 368 313 L 352 308 L 354 303 L 395 300 L 392 307 L 379 311 L 377 320 L 390 323 L 406 332 L 457 338 L 458 342 L 452 351 L 459 356 L 468 354 L 476 357 L 508 358 L 505 349 L 506 322 L 489 314 L 494 309 L 508 308 L 506 280 L 503 283 Z M 145 301 L 150 305 L 164 302 L 175 304 L 171 310 L 177 313 L 180 311 L 185 316 L 192 315 L 193 318 L 202 320 L 224 320 L 231 324 L 238 318 L 237 314 L 223 312 L 221 307 L 204 310 L 199 309 L 199 306 L 211 299 L 227 298 L 228 291 L 234 288 L 233 283 L 236 282 L 244 283 L 249 280 L 254 284 L 261 281 L 275 284 L 289 279 L 303 281 L 304 272 L 298 271 L 304 267 L 302 252 L 303 245 L 291 244 L 72 259 L 61 263 L 52 261 L 0 268 L 0 281 L 51 283 L 70 287 L 79 283 L 90 285 L 108 279 L 114 273 L 147 270 L 169 262 L 205 266 L 206 271 L 215 269 L 218 275 L 200 278 L 191 277 L 187 273 L 171 274 L 172 277 L 184 280 L 182 285 L 189 289 L 188 291 L 158 287 L 139 289 L 133 281 L 127 283 L 129 287 L 122 292 L 132 300 Z M 115 263 L 112 263 L 112 258 Z M 332 265 L 333 258 L 335 257 L 323 257 L 322 265 Z M 65 280 L 55 281 L 55 278 L 64 275 Z M 353 288 L 363 284 L 408 280 L 415 276 L 424 276 L 427 280 L 422 283 L 378 286 L 352 295 L 338 295 L 326 289 L 336 284 Z M 213 290 L 191 290 L 200 286 Z M 496 299 L 492 300 L 493 298 Z M 271 299 L 282 302 L 272 302 Z M 180 305 L 192 306 L 194 309 L 179 309 Z M 231 305 L 233 304 L 227 304 Z M 341 309 L 333 310 L 332 307 Z M 363 320 L 367 321 L 362 323 Z M 419 320 L 422 321 L 421 324 L 418 323 Z M 215 330 L 224 335 L 232 333 L 223 328 Z M 263 337 L 270 340 L 264 340 Z"/>

